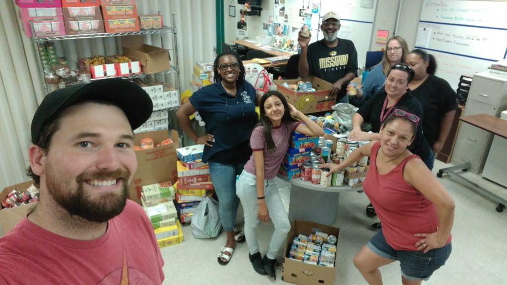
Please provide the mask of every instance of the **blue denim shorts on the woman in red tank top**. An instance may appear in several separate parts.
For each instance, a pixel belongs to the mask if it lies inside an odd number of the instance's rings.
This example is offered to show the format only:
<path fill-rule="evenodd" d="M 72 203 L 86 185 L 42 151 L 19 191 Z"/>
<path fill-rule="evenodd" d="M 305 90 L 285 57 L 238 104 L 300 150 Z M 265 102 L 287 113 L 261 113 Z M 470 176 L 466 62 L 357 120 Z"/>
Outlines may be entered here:
<path fill-rule="evenodd" d="M 452 251 L 450 242 L 443 247 L 433 248 L 427 253 L 420 251 L 397 251 L 387 244 L 382 230 L 377 232 L 366 246 L 378 256 L 399 260 L 402 275 L 405 278 L 422 280 L 428 280 L 435 270 L 444 265 Z"/>

